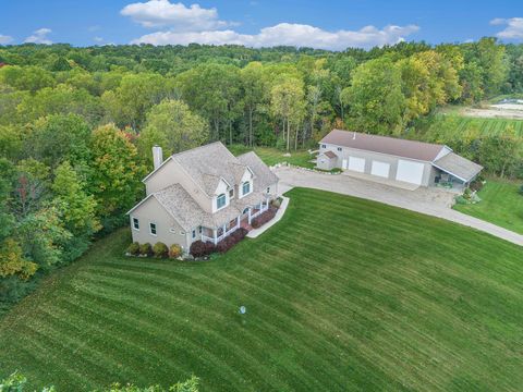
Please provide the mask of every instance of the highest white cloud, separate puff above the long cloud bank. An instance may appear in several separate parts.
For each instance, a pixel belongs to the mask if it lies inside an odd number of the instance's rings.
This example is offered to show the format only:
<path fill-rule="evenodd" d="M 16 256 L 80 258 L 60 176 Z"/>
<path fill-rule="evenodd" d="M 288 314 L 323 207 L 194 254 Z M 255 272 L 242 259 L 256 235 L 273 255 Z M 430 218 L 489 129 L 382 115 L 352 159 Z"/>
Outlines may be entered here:
<path fill-rule="evenodd" d="M 169 0 L 149 0 L 125 5 L 120 13 L 130 16 L 144 27 L 169 26 L 172 32 L 204 32 L 231 25 L 218 19 L 215 8 L 204 9 L 199 4 L 185 7 Z"/>

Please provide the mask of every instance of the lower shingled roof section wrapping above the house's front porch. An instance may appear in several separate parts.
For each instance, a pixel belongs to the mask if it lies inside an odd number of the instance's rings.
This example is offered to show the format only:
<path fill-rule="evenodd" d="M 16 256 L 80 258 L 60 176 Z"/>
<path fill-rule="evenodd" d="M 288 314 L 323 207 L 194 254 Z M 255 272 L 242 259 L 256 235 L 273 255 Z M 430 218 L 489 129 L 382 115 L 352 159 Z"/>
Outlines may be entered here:
<path fill-rule="evenodd" d="M 155 192 L 153 195 L 185 231 L 199 225 L 218 229 L 240 216 L 246 207 L 252 207 L 266 200 L 264 194 L 253 192 L 241 199 L 233 198 L 229 206 L 210 213 L 204 211 L 180 184 L 168 186 Z"/>

